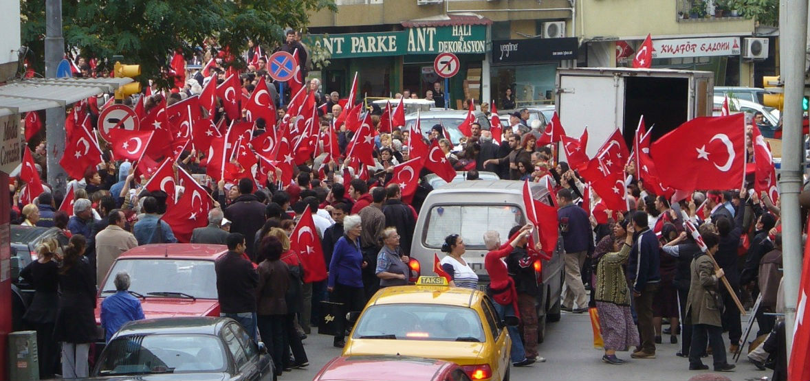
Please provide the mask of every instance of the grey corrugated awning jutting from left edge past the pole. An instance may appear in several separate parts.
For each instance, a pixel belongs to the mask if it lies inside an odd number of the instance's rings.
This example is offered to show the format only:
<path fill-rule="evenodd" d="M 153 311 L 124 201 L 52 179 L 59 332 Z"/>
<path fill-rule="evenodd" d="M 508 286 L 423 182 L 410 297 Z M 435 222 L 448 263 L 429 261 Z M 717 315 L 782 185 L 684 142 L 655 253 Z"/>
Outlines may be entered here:
<path fill-rule="evenodd" d="M 0 116 L 66 106 L 110 93 L 132 78 L 28 78 L 0 86 Z"/>

